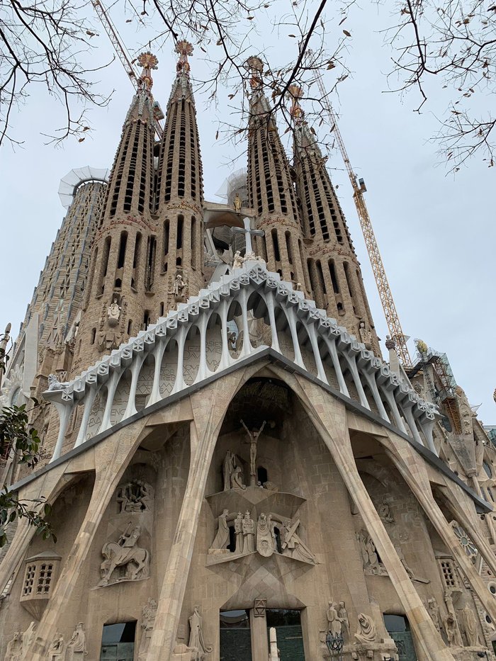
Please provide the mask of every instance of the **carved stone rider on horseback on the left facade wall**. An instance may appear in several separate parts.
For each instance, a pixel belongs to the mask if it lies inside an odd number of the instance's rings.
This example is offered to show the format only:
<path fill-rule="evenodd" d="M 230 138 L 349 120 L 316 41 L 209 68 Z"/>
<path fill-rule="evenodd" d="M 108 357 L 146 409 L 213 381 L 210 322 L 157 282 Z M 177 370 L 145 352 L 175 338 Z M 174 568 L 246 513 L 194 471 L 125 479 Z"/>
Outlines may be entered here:
<path fill-rule="evenodd" d="M 145 548 L 136 546 L 141 535 L 140 526 L 133 526 L 131 522 L 128 528 L 120 536 L 118 542 L 107 542 L 103 545 L 101 555 L 103 563 L 100 565 L 101 581 L 98 585 L 107 585 L 111 580 L 112 572 L 117 567 L 125 566 L 125 579 L 134 581 L 139 575 L 146 575 L 150 564 L 150 553 Z"/>

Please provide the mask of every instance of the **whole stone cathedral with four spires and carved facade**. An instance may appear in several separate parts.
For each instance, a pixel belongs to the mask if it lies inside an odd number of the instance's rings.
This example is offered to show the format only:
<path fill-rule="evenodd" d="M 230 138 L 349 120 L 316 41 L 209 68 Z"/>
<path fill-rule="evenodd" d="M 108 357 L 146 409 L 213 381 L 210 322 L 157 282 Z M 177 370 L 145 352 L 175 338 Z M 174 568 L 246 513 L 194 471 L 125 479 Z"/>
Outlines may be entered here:
<path fill-rule="evenodd" d="M 290 159 L 257 57 L 247 172 L 204 200 L 176 50 L 165 117 L 143 53 L 110 174 L 62 181 L 9 362 L 43 446 L 2 484 L 57 541 L 9 526 L 0 659 L 495 661 L 492 441 L 446 356 L 381 357 L 300 91 Z"/>

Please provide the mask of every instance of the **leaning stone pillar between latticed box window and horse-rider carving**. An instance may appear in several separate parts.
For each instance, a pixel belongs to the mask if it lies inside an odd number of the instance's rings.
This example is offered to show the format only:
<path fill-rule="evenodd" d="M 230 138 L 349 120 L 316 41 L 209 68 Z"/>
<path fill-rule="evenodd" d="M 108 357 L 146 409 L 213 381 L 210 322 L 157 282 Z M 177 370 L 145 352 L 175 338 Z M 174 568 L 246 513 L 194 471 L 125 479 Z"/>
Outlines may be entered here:
<path fill-rule="evenodd" d="M 115 488 L 127 468 L 135 448 L 140 443 L 143 422 L 130 424 L 117 431 L 110 441 L 94 447 L 96 478 L 86 515 L 74 540 L 72 549 L 62 567 L 52 597 L 38 625 L 37 635 L 31 643 L 26 659 L 45 661 L 60 619 L 67 611 L 69 600 L 89 553 L 91 543 L 107 509 Z M 98 470 L 101 467 L 101 470 Z"/>

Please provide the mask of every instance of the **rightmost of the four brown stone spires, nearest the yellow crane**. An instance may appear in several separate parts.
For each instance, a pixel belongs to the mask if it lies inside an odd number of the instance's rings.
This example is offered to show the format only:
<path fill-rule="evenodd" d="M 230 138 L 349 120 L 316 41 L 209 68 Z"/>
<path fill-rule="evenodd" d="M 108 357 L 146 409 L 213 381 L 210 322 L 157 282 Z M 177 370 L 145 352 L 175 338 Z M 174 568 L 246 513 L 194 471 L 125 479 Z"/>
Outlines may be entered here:
<path fill-rule="evenodd" d="M 381 355 L 363 279 L 348 226 L 315 135 L 293 90 L 296 192 L 302 200 L 307 265 L 312 298 L 359 341 Z"/>

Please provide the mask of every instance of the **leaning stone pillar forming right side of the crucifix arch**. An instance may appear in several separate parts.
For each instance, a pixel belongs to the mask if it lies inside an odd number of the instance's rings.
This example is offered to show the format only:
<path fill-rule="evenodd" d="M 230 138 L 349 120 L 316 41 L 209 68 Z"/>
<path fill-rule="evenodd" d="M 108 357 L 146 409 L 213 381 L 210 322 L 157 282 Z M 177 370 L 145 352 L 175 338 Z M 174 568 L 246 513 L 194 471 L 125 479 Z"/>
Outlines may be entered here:
<path fill-rule="evenodd" d="M 381 555 L 391 583 L 405 609 L 405 615 L 415 636 L 419 659 L 422 661 L 434 659 L 436 661 L 454 661 L 453 655 L 446 648 L 422 599 L 413 587 L 405 567 L 398 558 L 398 553 L 396 553 L 365 485 L 363 485 L 351 450 L 344 405 L 334 400 L 334 397 L 323 391 L 322 388 L 309 383 L 308 380 L 301 385 L 302 388 L 298 394 L 303 405 L 310 414 L 322 441 L 329 448 L 333 461 L 351 498 L 359 509 L 363 523 Z M 490 593 L 487 592 L 487 594 Z"/>

